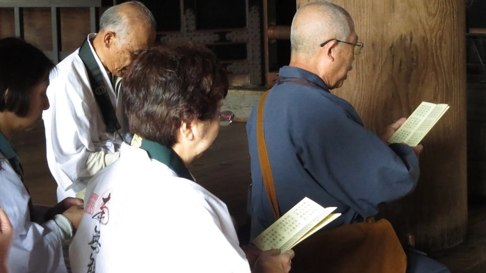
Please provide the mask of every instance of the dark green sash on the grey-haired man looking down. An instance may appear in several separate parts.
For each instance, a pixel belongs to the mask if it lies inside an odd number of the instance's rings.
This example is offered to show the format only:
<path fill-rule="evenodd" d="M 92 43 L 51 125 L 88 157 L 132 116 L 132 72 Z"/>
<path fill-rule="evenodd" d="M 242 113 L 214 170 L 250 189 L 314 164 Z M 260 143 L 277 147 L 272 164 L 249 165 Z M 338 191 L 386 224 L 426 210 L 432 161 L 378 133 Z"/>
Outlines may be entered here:
<path fill-rule="evenodd" d="M 95 56 L 93 56 L 91 52 L 88 39 L 84 41 L 79 49 L 79 57 L 83 60 L 86 71 L 88 72 L 91 89 L 95 95 L 99 110 L 102 112 L 106 131 L 108 131 L 108 133 L 113 133 L 122 127 L 116 118 L 115 109 L 113 109 L 110 96 L 108 95 L 108 92 L 106 92 L 102 71 L 99 69 Z"/>

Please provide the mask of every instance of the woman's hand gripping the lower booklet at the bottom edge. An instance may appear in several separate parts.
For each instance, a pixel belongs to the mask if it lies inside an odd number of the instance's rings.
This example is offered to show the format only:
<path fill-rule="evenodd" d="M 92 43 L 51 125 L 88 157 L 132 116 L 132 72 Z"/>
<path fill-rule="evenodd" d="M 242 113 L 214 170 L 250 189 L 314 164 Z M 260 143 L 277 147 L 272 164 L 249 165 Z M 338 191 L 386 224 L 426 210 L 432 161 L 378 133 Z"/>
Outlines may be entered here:
<path fill-rule="evenodd" d="M 291 260 L 295 256 L 292 249 L 280 253 L 278 249 L 261 252 L 254 263 L 253 273 L 288 273 L 291 269 Z"/>

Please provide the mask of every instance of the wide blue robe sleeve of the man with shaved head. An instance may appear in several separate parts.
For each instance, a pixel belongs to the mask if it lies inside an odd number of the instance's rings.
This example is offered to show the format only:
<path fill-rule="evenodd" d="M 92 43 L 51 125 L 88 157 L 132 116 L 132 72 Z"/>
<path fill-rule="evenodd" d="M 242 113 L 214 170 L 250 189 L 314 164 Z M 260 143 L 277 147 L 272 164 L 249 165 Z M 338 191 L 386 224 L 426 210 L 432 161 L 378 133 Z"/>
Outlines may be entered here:
<path fill-rule="evenodd" d="M 363 217 L 375 215 L 379 204 L 414 189 L 419 160 L 405 144 L 384 143 L 350 105 L 329 97 L 296 104 L 299 115 L 289 114 L 296 156 L 332 197 Z"/>

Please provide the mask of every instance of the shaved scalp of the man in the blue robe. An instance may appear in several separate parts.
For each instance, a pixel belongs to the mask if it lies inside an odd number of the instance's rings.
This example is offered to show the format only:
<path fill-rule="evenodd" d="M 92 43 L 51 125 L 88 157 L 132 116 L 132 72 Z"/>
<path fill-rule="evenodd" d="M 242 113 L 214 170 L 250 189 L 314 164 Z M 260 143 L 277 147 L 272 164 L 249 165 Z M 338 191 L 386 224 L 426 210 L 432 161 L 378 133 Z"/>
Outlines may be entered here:
<path fill-rule="evenodd" d="M 301 6 L 291 26 L 292 53 L 313 56 L 319 44 L 330 39 L 346 40 L 353 26 L 349 13 L 334 3 L 315 1 Z"/>

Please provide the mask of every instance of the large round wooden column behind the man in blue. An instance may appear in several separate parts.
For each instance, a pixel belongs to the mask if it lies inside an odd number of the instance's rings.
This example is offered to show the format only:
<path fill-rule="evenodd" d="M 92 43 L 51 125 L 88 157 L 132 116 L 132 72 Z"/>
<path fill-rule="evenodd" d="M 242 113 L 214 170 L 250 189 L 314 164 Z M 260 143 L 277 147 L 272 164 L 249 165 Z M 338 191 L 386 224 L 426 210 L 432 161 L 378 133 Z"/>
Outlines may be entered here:
<path fill-rule="evenodd" d="M 297 0 L 298 5 L 309 1 Z M 464 0 L 331 0 L 346 8 L 364 42 L 336 93 L 380 131 L 421 101 L 451 108 L 422 144 L 412 195 L 384 207 L 401 240 L 428 251 L 453 247 L 467 231 Z"/>

